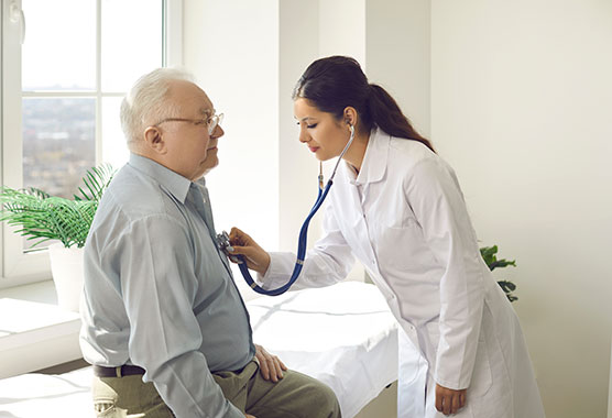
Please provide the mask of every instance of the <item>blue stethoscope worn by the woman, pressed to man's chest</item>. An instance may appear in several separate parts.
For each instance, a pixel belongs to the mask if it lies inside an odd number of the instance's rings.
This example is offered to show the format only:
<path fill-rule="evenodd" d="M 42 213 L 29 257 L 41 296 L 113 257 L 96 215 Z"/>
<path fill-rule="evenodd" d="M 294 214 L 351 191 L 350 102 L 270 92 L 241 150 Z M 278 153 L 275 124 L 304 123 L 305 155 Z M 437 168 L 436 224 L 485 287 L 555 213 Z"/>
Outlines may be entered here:
<path fill-rule="evenodd" d="M 338 161 L 336 162 L 336 166 L 334 167 L 334 172 L 331 172 L 331 176 L 329 177 L 329 180 L 327 180 L 327 185 L 325 186 L 325 188 L 323 187 L 323 163 L 319 165 L 319 176 L 318 176 L 318 195 L 317 195 L 317 200 L 315 201 L 315 205 L 313 206 L 313 209 L 310 209 L 310 212 L 308 213 L 308 216 L 306 217 L 306 219 L 304 220 L 304 223 L 302 224 L 302 229 L 299 230 L 299 239 L 297 242 L 297 260 L 295 261 L 295 267 L 293 268 L 293 273 L 291 275 L 289 280 L 284 284 L 283 286 L 272 289 L 272 290 L 266 290 L 264 288 L 262 288 L 261 286 L 259 286 L 255 280 L 253 280 L 253 277 L 251 277 L 251 273 L 249 272 L 249 268 L 247 267 L 247 262 L 244 261 L 242 255 L 237 255 L 237 254 L 231 254 L 229 253 L 229 251 L 233 251 L 233 248 L 231 246 L 231 243 L 229 241 L 229 235 L 226 231 L 223 231 L 222 233 L 217 235 L 217 245 L 219 246 L 219 250 L 222 251 L 223 253 L 226 253 L 226 255 L 233 261 L 234 263 L 238 263 L 238 267 L 240 268 L 240 272 L 242 273 L 242 276 L 244 277 L 244 280 L 247 282 L 247 284 L 256 293 L 262 294 L 262 295 L 269 295 L 269 296 L 278 296 L 284 294 L 285 292 L 287 292 L 289 289 L 289 287 L 292 287 L 292 285 L 295 283 L 295 280 L 297 280 L 297 277 L 299 277 L 299 273 L 302 273 L 302 267 L 304 266 L 304 261 L 306 257 L 306 243 L 307 243 L 307 234 L 308 234 L 308 224 L 310 223 L 310 219 L 313 219 L 313 217 L 315 216 L 315 213 L 317 212 L 317 210 L 319 210 L 319 208 L 321 207 L 323 202 L 325 201 L 325 198 L 327 197 L 327 194 L 329 193 L 329 189 L 331 188 L 331 185 L 334 183 L 334 177 L 336 176 L 336 170 L 338 169 L 338 165 L 340 164 L 340 161 L 342 160 L 342 156 L 345 156 L 345 153 L 347 152 L 347 150 L 349 148 L 349 146 L 352 143 L 352 140 L 354 139 L 354 128 L 353 125 L 349 125 L 349 129 L 351 130 L 351 136 L 349 139 L 349 142 L 347 142 L 347 145 L 345 146 L 345 148 L 342 150 L 342 152 L 340 153 L 340 156 L 338 157 Z"/>

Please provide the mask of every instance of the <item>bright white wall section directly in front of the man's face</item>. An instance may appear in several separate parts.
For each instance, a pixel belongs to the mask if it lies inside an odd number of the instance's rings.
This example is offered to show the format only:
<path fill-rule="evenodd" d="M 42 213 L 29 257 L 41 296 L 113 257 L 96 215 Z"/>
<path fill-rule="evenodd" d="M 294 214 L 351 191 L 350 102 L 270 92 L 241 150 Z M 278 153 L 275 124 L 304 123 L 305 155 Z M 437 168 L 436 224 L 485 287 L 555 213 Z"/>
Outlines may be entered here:
<path fill-rule="evenodd" d="M 185 0 L 184 22 L 185 67 L 226 114 L 219 166 L 206 176 L 216 229 L 276 248 L 278 2 Z"/>

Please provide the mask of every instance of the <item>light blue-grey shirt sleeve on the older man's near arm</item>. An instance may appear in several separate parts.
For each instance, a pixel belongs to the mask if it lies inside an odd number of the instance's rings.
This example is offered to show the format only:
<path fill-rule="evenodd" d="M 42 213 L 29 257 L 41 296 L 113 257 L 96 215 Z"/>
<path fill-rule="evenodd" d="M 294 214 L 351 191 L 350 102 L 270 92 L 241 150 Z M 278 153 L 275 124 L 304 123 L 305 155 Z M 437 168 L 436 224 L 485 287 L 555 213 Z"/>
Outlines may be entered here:
<path fill-rule="evenodd" d="M 243 418 L 198 350 L 193 252 L 187 231 L 163 215 L 132 222 L 107 249 L 121 279 L 130 359 L 146 371 L 143 381 L 153 382 L 177 418 Z"/>

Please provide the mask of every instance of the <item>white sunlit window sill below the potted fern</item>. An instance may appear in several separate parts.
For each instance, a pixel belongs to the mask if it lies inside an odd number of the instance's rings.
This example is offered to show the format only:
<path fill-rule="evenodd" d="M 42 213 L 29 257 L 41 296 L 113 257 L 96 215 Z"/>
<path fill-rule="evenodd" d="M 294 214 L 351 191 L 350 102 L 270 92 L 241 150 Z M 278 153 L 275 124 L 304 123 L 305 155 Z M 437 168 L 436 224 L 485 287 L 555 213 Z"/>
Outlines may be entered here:
<path fill-rule="evenodd" d="M 0 378 L 81 358 L 79 315 L 56 304 L 52 280 L 0 290 Z"/>

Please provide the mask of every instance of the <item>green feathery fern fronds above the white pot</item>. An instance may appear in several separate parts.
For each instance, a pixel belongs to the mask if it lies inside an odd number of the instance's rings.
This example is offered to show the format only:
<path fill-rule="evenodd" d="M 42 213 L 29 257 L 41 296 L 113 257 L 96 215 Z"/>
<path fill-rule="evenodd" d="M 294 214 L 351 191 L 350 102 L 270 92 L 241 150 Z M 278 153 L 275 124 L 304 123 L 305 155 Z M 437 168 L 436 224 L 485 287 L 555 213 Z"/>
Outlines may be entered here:
<path fill-rule="evenodd" d="M 0 189 L 0 204 L 4 206 L 0 221 L 18 227 L 17 233 L 28 240 L 37 240 L 39 245 L 48 240 L 58 240 L 64 246 L 81 248 L 89 233 L 98 202 L 110 184 L 114 170 L 108 164 L 90 168 L 83 177 L 84 188 L 75 199 L 50 196 L 43 190 L 30 188 Z"/>

